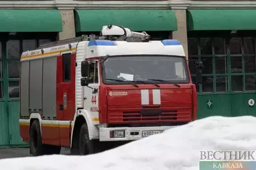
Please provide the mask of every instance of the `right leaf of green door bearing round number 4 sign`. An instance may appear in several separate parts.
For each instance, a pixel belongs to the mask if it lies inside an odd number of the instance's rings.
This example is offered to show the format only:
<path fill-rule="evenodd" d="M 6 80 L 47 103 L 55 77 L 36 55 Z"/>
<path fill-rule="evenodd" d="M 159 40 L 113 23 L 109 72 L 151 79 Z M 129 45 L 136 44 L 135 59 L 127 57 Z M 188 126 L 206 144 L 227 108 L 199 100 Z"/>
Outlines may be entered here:
<path fill-rule="evenodd" d="M 256 116 L 255 38 L 232 37 L 228 43 L 230 59 L 231 113 Z"/>

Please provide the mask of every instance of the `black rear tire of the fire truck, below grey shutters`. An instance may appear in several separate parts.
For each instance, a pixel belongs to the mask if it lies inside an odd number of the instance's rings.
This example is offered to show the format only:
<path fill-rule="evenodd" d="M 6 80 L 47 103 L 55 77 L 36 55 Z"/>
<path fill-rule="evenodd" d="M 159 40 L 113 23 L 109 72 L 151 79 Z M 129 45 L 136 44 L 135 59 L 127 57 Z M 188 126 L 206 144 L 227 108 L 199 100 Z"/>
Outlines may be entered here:
<path fill-rule="evenodd" d="M 29 131 L 29 148 L 33 156 L 44 155 L 44 145 L 38 120 L 34 120 Z"/>

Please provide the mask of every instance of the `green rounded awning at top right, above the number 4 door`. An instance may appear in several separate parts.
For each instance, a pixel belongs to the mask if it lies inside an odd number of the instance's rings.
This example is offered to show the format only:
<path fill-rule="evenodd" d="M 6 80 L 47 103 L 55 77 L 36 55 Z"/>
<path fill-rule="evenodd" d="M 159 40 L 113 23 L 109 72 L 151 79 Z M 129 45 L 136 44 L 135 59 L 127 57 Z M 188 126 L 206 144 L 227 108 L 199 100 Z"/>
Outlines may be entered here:
<path fill-rule="evenodd" d="M 255 30 L 256 10 L 204 9 L 188 10 L 188 31 Z"/>

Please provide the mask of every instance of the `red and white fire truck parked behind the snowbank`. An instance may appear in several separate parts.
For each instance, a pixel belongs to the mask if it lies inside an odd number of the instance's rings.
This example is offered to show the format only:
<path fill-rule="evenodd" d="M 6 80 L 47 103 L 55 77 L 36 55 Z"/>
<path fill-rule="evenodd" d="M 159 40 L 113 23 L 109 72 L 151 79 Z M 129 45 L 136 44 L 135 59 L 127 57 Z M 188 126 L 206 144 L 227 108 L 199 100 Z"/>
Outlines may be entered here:
<path fill-rule="evenodd" d="M 32 155 L 87 155 L 196 119 L 196 87 L 175 39 L 106 25 L 20 61 L 20 136 Z"/>

